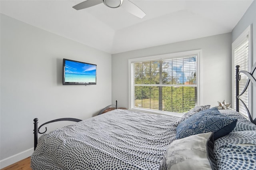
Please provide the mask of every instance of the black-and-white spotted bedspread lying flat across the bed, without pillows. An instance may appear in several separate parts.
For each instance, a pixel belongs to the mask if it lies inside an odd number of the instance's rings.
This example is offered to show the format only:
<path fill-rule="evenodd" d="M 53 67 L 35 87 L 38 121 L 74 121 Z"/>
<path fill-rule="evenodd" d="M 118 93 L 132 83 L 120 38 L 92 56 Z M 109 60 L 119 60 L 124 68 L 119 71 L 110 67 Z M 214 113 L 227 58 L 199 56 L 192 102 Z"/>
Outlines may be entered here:
<path fill-rule="evenodd" d="M 179 118 L 117 109 L 42 135 L 33 170 L 158 170 Z"/>

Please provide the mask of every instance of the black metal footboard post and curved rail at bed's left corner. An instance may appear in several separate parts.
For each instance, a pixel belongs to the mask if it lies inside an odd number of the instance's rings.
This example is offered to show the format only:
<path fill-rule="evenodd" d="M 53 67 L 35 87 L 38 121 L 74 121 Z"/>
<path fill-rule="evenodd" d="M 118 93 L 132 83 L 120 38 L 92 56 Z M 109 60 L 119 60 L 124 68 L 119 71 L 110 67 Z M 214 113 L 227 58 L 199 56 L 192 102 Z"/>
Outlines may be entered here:
<path fill-rule="evenodd" d="M 52 121 L 48 121 L 46 123 L 43 123 L 40 127 L 38 127 L 38 119 L 34 119 L 34 150 L 36 149 L 37 146 L 37 140 L 38 140 L 38 133 L 43 134 L 47 131 L 47 127 L 45 127 L 44 132 L 40 132 L 40 128 L 48 123 L 53 123 L 53 122 L 58 122 L 58 121 L 73 121 L 73 122 L 80 122 L 82 121 L 81 119 L 75 119 L 75 118 L 60 118 L 60 119 L 54 119 Z"/>

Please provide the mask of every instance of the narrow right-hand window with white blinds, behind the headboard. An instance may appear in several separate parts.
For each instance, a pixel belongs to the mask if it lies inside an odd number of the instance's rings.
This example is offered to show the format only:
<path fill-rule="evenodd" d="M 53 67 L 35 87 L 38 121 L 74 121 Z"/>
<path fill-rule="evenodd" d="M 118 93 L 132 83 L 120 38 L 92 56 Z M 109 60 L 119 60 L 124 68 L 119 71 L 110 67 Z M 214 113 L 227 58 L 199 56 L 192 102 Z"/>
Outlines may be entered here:
<path fill-rule="evenodd" d="M 236 71 L 235 66 L 240 65 L 240 70 L 250 71 L 250 27 L 249 26 L 233 43 L 232 43 L 232 72 L 233 72 L 233 83 L 232 83 L 232 92 L 233 92 L 233 108 L 236 108 Z M 245 87 L 247 76 L 240 74 L 239 81 L 239 93 Z M 245 91 L 245 93 L 240 97 L 250 109 L 250 87 Z M 239 101 L 239 112 L 244 116 L 248 117 L 244 105 Z"/>

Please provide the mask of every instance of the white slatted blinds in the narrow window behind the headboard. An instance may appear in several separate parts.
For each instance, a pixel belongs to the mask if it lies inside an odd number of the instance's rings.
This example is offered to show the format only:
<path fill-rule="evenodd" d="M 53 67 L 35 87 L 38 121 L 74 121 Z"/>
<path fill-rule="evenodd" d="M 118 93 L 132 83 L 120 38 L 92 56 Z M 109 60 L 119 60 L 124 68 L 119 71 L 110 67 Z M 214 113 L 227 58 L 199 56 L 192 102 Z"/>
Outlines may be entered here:
<path fill-rule="evenodd" d="M 249 71 L 249 37 L 248 35 L 234 48 L 234 66 L 239 65 L 240 70 Z M 236 76 L 236 71 L 234 70 L 234 75 Z M 239 81 L 239 94 L 243 91 L 247 76 L 244 74 L 240 74 L 240 81 Z M 236 84 L 236 77 L 234 78 L 234 84 Z M 234 97 L 236 99 L 235 88 L 234 88 Z M 234 99 L 234 101 L 235 101 Z M 244 92 L 244 94 L 240 97 L 242 101 L 246 104 L 246 107 L 249 108 L 249 92 L 248 89 Z M 234 108 L 236 108 L 236 103 L 234 102 Z M 244 116 L 248 117 L 246 109 L 244 105 L 239 101 L 239 112 L 242 113 Z"/>

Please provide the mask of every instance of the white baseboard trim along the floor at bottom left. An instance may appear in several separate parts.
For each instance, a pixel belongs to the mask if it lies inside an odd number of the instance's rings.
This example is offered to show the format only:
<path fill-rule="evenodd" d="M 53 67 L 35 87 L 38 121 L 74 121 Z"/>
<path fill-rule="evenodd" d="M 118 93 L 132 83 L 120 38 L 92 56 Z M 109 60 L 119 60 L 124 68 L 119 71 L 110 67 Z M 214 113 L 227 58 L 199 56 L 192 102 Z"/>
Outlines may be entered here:
<path fill-rule="evenodd" d="M 6 166 L 9 166 L 11 164 L 14 164 L 15 162 L 18 162 L 22 159 L 28 158 L 29 156 L 32 155 L 33 152 L 34 152 L 34 148 L 30 148 L 28 150 L 25 150 L 23 152 L 20 152 L 18 154 L 15 154 L 8 158 L 0 160 L 0 169 L 5 168 Z"/>

